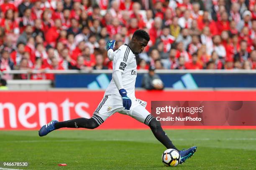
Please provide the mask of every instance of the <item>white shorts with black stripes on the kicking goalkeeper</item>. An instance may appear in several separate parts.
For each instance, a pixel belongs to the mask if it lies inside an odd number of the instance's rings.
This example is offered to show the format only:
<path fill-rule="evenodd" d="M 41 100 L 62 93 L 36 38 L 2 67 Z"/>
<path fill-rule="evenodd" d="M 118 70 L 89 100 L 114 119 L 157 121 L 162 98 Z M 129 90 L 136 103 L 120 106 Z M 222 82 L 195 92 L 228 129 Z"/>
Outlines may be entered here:
<path fill-rule="evenodd" d="M 101 125 L 108 117 L 115 112 L 119 112 L 123 115 L 129 115 L 134 119 L 145 123 L 148 123 L 154 118 L 148 110 L 146 110 L 146 102 L 133 99 L 130 110 L 125 110 L 123 107 L 122 98 L 118 95 L 105 95 L 95 110 L 92 118 Z"/>

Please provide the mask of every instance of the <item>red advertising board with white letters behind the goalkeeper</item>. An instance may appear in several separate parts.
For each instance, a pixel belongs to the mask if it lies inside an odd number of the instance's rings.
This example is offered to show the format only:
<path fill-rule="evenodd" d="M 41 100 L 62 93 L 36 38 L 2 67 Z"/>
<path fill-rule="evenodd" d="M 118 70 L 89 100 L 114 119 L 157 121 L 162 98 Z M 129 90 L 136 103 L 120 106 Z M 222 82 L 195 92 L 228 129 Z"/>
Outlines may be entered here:
<path fill-rule="evenodd" d="M 89 118 L 104 91 L 6 91 L 0 92 L 0 130 L 38 130 L 52 119 Z M 151 101 L 256 101 L 256 91 L 137 91 L 136 97 Z M 98 129 L 145 129 L 146 125 L 115 113 Z M 256 126 L 168 126 L 165 128 L 245 128 Z"/>

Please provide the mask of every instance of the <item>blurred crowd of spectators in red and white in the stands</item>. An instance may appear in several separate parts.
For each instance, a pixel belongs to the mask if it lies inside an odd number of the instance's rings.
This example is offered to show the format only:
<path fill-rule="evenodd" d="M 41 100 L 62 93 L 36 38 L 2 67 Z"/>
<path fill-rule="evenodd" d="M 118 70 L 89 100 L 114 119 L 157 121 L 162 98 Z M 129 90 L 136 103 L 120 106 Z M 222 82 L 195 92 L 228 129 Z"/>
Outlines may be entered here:
<path fill-rule="evenodd" d="M 138 69 L 256 68 L 255 0 L 0 0 L 0 71 L 112 69 L 106 42 L 137 29 Z"/>

